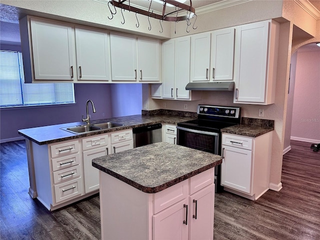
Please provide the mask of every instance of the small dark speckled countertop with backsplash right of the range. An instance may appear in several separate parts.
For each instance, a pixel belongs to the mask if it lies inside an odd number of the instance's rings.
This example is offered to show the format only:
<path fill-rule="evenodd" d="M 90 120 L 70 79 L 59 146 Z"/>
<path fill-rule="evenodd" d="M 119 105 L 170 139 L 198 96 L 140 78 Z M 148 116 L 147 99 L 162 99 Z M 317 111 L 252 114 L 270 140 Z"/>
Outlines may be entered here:
<path fill-rule="evenodd" d="M 274 120 L 242 117 L 241 124 L 221 129 L 221 132 L 257 137 L 274 129 Z"/>

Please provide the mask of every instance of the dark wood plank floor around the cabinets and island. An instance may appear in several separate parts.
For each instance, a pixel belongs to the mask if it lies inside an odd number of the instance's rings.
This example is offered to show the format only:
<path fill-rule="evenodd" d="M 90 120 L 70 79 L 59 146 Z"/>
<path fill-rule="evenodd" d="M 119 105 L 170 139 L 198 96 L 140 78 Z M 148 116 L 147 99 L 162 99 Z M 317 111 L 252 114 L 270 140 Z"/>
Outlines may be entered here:
<path fill-rule="evenodd" d="M 100 239 L 98 195 L 48 211 L 27 193 L 24 141 L 0 145 L 0 239 Z M 268 190 L 256 201 L 215 194 L 215 240 L 320 239 L 320 152 L 306 142 L 291 147 L 279 192 Z"/>

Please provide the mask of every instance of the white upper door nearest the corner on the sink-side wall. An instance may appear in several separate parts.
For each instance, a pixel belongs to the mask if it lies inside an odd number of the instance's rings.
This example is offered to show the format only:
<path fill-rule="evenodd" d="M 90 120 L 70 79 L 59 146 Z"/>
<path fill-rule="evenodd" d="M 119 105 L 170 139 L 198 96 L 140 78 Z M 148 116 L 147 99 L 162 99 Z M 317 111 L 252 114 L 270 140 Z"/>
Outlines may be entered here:
<path fill-rule="evenodd" d="M 138 38 L 138 75 L 139 81 L 159 81 L 159 41 Z"/>

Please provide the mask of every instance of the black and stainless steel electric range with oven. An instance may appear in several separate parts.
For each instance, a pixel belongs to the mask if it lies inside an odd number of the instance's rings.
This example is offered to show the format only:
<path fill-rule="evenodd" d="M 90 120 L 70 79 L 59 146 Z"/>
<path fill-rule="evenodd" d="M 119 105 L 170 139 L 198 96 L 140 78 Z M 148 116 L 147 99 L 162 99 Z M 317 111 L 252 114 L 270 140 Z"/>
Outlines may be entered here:
<path fill-rule="evenodd" d="M 221 155 L 221 129 L 240 123 L 240 107 L 201 105 L 198 118 L 177 123 L 177 144 Z M 214 169 L 215 191 L 221 191 L 220 165 Z"/>

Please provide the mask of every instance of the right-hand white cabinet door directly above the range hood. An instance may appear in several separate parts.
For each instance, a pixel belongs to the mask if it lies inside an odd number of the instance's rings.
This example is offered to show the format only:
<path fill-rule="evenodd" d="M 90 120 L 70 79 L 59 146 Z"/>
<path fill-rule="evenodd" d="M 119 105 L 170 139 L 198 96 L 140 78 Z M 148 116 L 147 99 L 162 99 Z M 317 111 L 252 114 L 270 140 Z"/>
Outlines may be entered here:
<path fill-rule="evenodd" d="M 211 33 L 211 80 L 233 79 L 234 28 Z"/>

